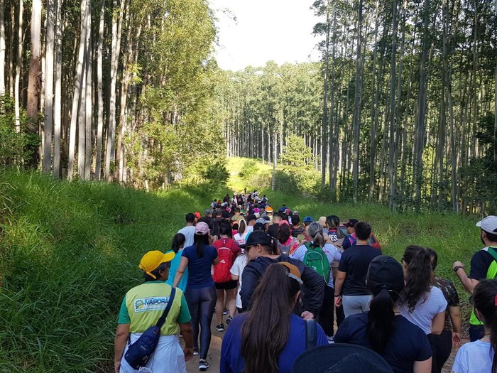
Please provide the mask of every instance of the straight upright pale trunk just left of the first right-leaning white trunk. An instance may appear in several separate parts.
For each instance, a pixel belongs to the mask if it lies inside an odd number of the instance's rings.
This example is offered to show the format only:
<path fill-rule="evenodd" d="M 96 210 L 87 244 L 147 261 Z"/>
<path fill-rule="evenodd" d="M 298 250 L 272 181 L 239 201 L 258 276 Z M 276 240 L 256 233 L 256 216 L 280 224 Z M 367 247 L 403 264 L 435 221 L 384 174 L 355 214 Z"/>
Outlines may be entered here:
<path fill-rule="evenodd" d="M 53 100 L 53 175 L 60 175 L 60 136 L 62 126 L 62 0 L 55 0 L 55 97 Z"/>

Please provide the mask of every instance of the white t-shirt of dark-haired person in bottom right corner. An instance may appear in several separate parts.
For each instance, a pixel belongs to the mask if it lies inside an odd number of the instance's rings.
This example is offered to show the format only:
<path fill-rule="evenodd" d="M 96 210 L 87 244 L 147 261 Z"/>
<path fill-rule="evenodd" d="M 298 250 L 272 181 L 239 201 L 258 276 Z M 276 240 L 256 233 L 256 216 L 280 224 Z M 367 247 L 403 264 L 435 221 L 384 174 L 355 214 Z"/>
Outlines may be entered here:
<path fill-rule="evenodd" d="M 493 352 L 490 342 L 465 343 L 457 351 L 452 373 L 488 373 L 492 371 Z"/>

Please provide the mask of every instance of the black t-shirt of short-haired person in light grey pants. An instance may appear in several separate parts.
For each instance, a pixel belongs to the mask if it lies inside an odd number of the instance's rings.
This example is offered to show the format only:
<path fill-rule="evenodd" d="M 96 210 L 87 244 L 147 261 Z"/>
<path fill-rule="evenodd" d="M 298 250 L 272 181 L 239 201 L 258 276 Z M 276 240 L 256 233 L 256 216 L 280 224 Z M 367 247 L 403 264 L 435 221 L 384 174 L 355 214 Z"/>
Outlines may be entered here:
<path fill-rule="evenodd" d="M 366 296 L 366 274 L 369 264 L 375 256 L 381 255 L 381 250 L 369 245 L 356 245 L 342 253 L 338 270 L 346 272 L 342 294 L 344 296 Z"/>

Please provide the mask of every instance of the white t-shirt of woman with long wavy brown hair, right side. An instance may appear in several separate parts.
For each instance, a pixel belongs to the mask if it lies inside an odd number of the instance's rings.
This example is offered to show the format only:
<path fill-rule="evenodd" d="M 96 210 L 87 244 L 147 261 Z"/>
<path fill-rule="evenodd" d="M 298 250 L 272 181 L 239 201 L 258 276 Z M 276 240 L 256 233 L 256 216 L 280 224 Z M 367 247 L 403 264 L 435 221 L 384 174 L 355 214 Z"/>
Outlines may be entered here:
<path fill-rule="evenodd" d="M 399 306 L 400 315 L 403 315 L 414 325 L 419 326 L 425 334 L 432 333 L 432 320 L 437 313 L 444 312 L 447 308 L 447 301 L 444 293 L 439 288 L 432 286 L 427 297 L 422 296 L 416 303 L 414 311 L 409 311 L 409 306 L 403 304 Z"/>

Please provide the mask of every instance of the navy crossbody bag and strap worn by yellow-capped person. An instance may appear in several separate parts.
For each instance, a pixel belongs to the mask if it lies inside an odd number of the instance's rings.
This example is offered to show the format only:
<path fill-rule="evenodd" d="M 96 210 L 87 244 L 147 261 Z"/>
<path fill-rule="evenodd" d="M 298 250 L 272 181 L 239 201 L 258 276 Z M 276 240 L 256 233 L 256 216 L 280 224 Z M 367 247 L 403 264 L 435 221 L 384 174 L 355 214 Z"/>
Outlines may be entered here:
<path fill-rule="evenodd" d="M 128 362 L 133 369 L 145 367 L 155 351 L 155 347 L 157 347 L 160 338 L 160 328 L 164 325 L 165 318 L 168 317 L 169 310 L 173 305 L 175 293 L 176 288 L 172 288 L 168 305 L 165 306 L 165 310 L 160 316 L 158 322 L 145 330 L 138 340 L 128 347 L 128 351 L 126 351 L 124 359 L 126 359 L 126 362 Z"/>

